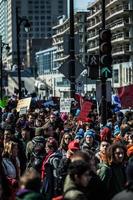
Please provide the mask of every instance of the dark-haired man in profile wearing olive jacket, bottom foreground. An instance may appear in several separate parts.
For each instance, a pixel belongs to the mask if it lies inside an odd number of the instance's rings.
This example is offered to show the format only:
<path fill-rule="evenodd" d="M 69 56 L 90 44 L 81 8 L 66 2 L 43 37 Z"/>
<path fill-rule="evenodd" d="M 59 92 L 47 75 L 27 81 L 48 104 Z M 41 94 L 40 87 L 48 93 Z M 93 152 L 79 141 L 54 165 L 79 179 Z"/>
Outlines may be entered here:
<path fill-rule="evenodd" d="M 64 200 L 87 200 L 84 188 L 89 180 L 89 165 L 81 160 L 72 162 L 64 184 Z"/>

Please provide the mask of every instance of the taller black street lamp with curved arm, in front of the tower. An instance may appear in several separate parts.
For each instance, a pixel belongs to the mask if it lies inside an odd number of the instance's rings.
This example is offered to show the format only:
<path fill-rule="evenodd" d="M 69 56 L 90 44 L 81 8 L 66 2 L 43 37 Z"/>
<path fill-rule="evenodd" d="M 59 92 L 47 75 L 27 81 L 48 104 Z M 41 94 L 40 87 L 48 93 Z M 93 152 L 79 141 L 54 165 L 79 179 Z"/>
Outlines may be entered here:
<path fill-rule="evenodd" d="M 16 8 L 16 34 L 17 34 L 17 65 L 18 65 L 18 90 L 19 90 L 19 99 L 22 97 L 21 91 L 21 65 L 20 65 L 20 41 L 19 41 L 19 34 L 20 34 L 20 26 L 24 22 L 25 31 L 28 32 L 30 29 L 30 23 L 28 19 L 25 17 L 20 17 L 18 15 L 18 8 Z"/>

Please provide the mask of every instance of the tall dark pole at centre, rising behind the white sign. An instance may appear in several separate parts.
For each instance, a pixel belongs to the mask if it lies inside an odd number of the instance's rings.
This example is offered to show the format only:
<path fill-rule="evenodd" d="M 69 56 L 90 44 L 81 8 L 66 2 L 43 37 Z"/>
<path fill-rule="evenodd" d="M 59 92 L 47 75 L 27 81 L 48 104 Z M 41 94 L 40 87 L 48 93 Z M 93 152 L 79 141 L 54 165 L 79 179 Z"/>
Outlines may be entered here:
<path fill-rule="evenodd" d="M 74 42 L 74 0 L 70 0 L 69 77 L 70 97 L 75 97 L 75 42 Z"/>

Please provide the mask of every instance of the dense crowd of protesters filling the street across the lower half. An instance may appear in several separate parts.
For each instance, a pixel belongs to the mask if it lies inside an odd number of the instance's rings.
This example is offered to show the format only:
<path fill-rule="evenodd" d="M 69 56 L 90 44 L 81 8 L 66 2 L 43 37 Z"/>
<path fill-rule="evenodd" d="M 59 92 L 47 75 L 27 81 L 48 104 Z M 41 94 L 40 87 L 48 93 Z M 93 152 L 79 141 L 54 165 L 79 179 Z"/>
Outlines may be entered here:
<path fill-rule="evenodd" d="M 100 126 L 58 108 L 17 101 L 0 110 L 0 200 L 133 199 L 133 113 Z"/>

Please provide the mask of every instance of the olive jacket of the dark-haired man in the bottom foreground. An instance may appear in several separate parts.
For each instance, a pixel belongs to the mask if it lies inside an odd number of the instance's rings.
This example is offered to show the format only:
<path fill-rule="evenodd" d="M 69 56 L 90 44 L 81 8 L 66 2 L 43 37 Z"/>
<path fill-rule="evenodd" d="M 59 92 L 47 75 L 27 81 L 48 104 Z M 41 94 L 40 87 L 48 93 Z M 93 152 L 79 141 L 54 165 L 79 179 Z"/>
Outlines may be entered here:
<path fill-rule="evenodd" d="M 64 200 L 87 200 L 83 188 L 77 186 L 69 175 L 64 184 Z"/>

